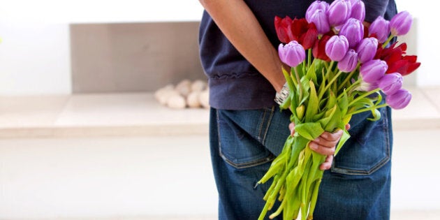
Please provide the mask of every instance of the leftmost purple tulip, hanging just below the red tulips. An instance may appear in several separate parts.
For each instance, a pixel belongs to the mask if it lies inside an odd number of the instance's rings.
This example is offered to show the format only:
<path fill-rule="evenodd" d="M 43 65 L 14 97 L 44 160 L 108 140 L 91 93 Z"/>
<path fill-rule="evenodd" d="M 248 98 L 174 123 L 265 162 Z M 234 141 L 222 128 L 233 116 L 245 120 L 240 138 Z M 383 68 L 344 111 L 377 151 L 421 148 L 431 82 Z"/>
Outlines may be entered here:
<path fill-rule="evenodd" d="M 283 45 L 282 43 L 278 47 L 279 59 L 288 66 L 298 66 L 305 60 L 305 50 L 302 45 L 297 41 L 291 41 L 290 43 Z"/>

